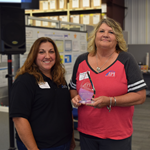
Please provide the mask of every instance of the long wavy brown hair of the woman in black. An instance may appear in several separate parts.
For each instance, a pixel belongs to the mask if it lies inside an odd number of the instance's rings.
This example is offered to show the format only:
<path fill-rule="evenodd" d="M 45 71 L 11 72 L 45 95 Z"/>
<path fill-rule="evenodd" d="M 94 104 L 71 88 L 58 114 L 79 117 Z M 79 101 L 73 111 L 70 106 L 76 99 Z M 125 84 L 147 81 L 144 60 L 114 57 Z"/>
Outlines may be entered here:
<path fill-rule="evenodd" d="M 44 82 L 41 71 L 39 70 L 39 67 L 36 64 L 36 58 L 41 43 L 45 43 L 45 42 L 50 42 L 54 46 L 55 55 L 56 55 L 55 64 L 51 68 L 52 79 L 57 84 L 57 86 L 61 84 L 65 84 L 65 78 L 64 78 L 65 69 L 61 62 L 61 58 L 57 46 L 54 43 L 54 41 L 48 37 L 41 37 L 33 43 L 24 65 L 18 70 L 15 78 L 17 78 L 19 75 L 22 75 L 24 73 L 29 73 L 36 78 L 37 82 Z"/>

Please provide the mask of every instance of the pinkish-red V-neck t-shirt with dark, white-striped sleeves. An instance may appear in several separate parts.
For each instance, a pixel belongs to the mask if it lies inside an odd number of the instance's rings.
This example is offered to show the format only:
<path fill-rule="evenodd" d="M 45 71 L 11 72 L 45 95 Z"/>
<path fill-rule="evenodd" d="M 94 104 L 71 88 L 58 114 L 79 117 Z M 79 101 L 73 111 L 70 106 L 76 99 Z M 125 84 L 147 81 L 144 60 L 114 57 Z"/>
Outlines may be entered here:
<path fill-rule="evenodd" d="M 84 73 L 90 73 L 96 94 L 114 97 L 136 92 L 146 87 L 142 74 L 133 57 L 121 52 L 116 61 L 101 73 L 94 71 L 87 61 L 88 53 L 78 57 L 70 82 L 70 88 L 79 91 Z M 133 132 L 132 117 L 134 106 L 113 107 L 109 112 L 107 107 L 101 109 L 82 105 L 78 107 L 78 131 L 102 139 L 125 139 Z"/>

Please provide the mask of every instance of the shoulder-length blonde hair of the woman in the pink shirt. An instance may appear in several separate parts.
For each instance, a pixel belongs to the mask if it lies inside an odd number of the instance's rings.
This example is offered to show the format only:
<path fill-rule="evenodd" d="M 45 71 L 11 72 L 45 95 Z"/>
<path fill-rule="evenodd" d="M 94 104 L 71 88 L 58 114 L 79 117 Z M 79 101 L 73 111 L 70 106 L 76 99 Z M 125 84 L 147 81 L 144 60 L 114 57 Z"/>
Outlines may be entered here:
<path fill-rule="evenodd" d="M 106 18 L 106 19 L 102 19 L 94 28 L 94 30 L 92 31 L 92 33 L 90 34 L 89 38 L 88 38 L 88 51 L 92 54 L 95 55 L 96 54 L 96 45 L 95 45 L 95 38 L 96 38 L 96 34 L 97 31 L 99 29 L 99 27 L 103 24 L 107 24 L 109 27 L 112 28 L 112 30 L 115 33 L 116 36 L 116 40 L 117 40 L 117 45 L 116 45 L 116 51 L 127 51 L 127 45 L 126 45 L 126 41 L 124 40 L 123 34 L 122 34 L 122 28 L 119 25 L 118 22 L 116 22 L 115 20 L 111 19 L 111 18 Z"/>

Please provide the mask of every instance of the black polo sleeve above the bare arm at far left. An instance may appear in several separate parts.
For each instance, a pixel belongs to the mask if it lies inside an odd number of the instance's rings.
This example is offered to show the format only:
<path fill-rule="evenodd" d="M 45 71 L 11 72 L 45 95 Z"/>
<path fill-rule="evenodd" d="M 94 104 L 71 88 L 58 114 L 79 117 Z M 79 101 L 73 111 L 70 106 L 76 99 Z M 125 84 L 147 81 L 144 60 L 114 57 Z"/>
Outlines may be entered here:
<path fill-rule="evenodd" d="M 10 117 L 29 119 L 34 100 L 35 80 L 28 77 L 18 77 L 11 89 Z"/>

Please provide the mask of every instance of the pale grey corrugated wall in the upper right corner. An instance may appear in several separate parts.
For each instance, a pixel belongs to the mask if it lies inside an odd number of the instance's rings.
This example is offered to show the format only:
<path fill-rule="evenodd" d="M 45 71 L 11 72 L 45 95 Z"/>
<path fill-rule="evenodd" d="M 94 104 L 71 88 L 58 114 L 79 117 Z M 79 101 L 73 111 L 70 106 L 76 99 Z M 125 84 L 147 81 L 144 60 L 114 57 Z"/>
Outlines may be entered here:
<path fill-rule="evenodd" d="M 128 44 L 150 44 L 150 0 L 125 0 Z"/>

